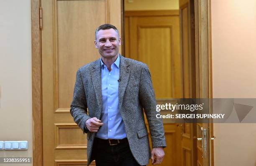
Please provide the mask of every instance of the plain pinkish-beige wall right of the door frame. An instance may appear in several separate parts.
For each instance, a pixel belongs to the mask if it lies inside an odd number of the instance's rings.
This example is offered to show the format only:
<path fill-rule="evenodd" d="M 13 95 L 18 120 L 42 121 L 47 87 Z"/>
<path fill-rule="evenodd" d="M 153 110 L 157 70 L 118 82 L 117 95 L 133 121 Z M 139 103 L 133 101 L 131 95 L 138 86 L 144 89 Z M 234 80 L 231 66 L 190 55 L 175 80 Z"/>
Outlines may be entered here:
<path fill-rule="evenodd" d="M 256 1 L 211 0 L 214 98 L 256 98 Z M 256 124 L 214 124 L 215 166 L 256 166 Z"/>

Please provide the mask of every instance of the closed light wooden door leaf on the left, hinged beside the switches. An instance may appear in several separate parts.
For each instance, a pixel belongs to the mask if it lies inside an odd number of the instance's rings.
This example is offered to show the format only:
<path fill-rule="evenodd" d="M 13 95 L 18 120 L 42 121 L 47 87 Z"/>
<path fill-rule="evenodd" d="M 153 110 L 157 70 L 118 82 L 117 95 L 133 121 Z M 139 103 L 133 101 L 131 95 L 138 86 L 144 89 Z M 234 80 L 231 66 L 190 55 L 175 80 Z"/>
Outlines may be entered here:
<path fill-rule="evenodd" d="M 86 166 L 86 135 L 69 113 L 76 71 L 100 57 L 94 46 L 99 25 L 121 31 L 121 2 L 42 0 L 41 6 L 43 165 Z"/>

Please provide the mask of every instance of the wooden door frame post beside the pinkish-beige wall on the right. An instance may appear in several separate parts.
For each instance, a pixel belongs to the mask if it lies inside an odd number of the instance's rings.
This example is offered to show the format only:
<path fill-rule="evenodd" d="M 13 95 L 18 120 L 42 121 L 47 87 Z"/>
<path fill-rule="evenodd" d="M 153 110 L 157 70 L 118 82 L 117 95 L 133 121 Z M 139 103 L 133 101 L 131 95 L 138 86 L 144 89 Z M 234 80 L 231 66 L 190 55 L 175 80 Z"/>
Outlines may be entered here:
<path fill-rule="evenodd" d="M 211 0 L 194 0 L 195 5 L 195 61 L 196 61 L 196 97 L 212 98 L 212 32 Z M 211 107 L 211 106 L 210 106 Z M 211 113 L 211 109 L 210 112 Z M 209 123 L 209 158 L 204 164 L 214 166 L 213 124 Z M 209 160 L 208 160 L 209 159 Z"/>

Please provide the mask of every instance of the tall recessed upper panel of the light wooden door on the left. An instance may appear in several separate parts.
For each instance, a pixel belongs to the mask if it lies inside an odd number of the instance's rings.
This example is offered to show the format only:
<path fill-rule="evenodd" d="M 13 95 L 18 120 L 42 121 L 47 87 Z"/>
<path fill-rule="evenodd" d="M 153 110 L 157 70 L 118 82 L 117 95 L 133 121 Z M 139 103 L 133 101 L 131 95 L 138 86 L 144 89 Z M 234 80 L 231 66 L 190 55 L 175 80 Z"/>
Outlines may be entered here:
<path fill-rule="evenodd" d="M 78 67 L 99 58 L 97 50 L 94 49 L 94 31 L 105 23 L 106 7 L 105 0 L 55 2 L 55 101 L 58 102 L 56 109 L 60 109 L 70 106 Z"/>

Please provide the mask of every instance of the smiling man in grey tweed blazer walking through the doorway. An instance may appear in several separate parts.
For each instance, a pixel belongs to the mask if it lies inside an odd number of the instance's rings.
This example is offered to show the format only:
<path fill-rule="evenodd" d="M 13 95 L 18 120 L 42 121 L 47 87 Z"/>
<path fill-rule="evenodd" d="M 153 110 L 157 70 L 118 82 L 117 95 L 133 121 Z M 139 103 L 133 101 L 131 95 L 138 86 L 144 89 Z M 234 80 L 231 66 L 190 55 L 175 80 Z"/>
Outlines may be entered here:
<path fill-rule="evenodd" d="M 140 166 L 149 159 L 160 164 L 166 141 L 148 67 L 121 56 L 120 45 L 117 28 L 100 25 L 95 31 L 100 59 L 77 71 L 70 112 L 87 133 L 87 165 L 95 160 L 96 166 Z"/>

